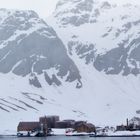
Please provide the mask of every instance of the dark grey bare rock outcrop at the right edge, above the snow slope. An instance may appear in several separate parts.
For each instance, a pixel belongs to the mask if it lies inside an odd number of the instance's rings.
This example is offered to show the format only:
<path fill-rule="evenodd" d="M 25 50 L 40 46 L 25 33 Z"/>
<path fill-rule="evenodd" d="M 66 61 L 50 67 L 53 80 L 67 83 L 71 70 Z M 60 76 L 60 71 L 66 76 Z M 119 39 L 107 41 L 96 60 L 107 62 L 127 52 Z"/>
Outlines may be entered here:
<path fill-rule="evenodd" d="M 134 39 L 126 48 L 120 46 L 106 54 L 98 55 L 94 62 L 95 68 L 106 74 L 122 73 L 124 76 L 137 76 L 140 74 L 139 41 L 139 38 Z"/>

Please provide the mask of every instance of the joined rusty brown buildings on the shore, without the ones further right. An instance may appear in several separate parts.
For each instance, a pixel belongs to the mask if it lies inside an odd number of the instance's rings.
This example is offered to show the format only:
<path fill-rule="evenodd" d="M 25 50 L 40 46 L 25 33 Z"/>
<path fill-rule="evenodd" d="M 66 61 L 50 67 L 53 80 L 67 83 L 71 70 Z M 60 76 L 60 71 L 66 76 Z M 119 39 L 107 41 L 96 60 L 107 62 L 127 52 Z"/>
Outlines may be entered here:
<path fill-rule="evenodd" d="M 59 116 L 40 117 L 37 122 L 19 122 L 18 136 L 48 136 L 52 129 L 72 128 L 77 133 L 92 133 L 96 131 L 92 123 L 86 121 L 60 120 Z"/>

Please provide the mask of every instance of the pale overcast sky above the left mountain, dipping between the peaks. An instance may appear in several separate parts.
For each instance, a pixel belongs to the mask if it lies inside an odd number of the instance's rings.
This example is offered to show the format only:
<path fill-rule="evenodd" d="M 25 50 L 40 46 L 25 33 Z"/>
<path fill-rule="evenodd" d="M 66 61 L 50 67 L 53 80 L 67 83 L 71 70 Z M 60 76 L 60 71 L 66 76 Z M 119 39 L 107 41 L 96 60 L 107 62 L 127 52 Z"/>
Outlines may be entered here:
<path fill-rule="evenodd" d="M 49 16 L 58 0 L 0 0 L 0 8 L 34 10 L 41 17 Z"/>

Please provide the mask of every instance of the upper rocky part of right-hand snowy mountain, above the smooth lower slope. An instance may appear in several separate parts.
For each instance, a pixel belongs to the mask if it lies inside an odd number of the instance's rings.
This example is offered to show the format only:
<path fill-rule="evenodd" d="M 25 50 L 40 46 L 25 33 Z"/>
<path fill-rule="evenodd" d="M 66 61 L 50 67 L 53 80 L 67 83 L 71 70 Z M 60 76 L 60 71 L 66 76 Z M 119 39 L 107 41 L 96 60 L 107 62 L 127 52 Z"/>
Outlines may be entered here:
<path fill-rule="evenodd" d="M 52 23 L 70 55 L 76 53 L 106 74 L 138 75 L 140 7 L 127 1 L 118 3 L 60 0 Z"/>

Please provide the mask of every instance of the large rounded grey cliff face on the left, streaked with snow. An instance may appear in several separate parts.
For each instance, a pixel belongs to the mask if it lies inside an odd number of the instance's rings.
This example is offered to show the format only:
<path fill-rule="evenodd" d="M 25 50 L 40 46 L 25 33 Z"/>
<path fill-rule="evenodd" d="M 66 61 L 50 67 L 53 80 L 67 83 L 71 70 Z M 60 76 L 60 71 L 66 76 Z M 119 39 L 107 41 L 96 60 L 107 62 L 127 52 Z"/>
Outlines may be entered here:
<path fill-rule="evenodd" d="M 69 82 L 80 81 L 79 71 L 62 41 L 35 12 L 1 9 L 0 17 L 0 72 L 36 75 L 37 79 L 40 74 L 45 78 L 47 70 L 54 68 L 52 83 L 59 81 L 57 77 L 65 77 Z M 41 87 L 36 80 L 30 83 Z"/>

